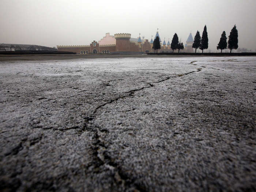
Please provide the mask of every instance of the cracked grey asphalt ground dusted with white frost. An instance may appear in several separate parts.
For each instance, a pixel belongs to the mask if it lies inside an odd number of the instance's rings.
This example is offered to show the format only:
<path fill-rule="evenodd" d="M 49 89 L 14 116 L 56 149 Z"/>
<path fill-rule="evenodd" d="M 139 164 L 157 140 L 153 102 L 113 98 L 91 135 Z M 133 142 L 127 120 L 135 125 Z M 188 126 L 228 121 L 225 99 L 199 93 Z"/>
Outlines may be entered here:
<path fill-rule="evenodd" d="M 0 191 L 256 191 L 256 57 L 6 58 Z"/>

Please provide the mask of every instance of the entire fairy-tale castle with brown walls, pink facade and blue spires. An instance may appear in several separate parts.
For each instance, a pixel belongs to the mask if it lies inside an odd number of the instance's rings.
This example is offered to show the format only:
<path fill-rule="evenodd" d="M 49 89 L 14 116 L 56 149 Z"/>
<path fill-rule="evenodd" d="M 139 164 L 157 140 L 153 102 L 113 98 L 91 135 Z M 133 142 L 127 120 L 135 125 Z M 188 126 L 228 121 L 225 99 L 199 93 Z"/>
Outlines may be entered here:
<path fill-rule="evenodd" d="M 153 37 L 153 36 L 152 36 Z M 116 33 L 110 35 L 106 33 L 105 37 L 101 40 L 92 41 L 90 45 L 57 45 L 59 51 L 70 51 L 76 52 L 78 54 L 88 54 L 88 53 L 112 53 L 112 54 L 147 54 L 154 52 L 153 50 L 153 38 L 148 42 L 148 39 L 140 37 L 131 38 L 130 33 Z M 161 38 L 157 31 L 155 38 L 159 37 L 161 49 L 159 52 L 172 52 L 170 49 L 170 41 L 168 40 L 167 44 L 165 39 L 163 45 L 161 44 Z M 155 39 L 154 38 L 154 39 Z M 192 42 L 191 42 L 192 39 Z M 191 33 L 189 34 L 187 44 L 185 45 L 184 52 L 193 52 L 192 48 L 193 38 Z"/>

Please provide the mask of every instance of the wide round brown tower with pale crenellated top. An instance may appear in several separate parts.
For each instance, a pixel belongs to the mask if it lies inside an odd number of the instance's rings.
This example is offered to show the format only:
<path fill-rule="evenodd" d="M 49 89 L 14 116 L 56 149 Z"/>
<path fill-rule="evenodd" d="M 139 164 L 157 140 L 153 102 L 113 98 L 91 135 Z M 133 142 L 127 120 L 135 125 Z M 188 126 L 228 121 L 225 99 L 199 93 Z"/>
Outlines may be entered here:
<path fill-rule="evenodd" d="M 130 33 L 116 33 L 114 38 L 116 39 L 116 51 L 130 51 Z"/>

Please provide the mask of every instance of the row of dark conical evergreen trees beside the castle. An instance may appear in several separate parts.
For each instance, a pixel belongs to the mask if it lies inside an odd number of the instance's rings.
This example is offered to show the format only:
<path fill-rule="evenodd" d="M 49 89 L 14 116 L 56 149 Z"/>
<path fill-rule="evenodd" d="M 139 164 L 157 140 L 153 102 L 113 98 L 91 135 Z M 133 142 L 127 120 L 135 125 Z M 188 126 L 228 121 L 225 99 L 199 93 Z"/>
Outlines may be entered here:
<path fill-rule="evenodd" d="M 156 37 L 154 39 L 152 48 L 154 50 L 161 49 L 159 37 Z M 200 33 L 197 30 L 192 48 L 195 48 L 195 53 L 198 48 L 202 50 L 202 53 L 204 52 L 204 49 L 208 49 L 208 34 L 207 34 L 206 25 L 204 26 L 202 38 L 200 37 Z M 230 49 L 230 53 L 232 49 L 238 48 L 238 31 L 236 29 L 236 25 L 230 31 L 228 42 L 227 42 L 226 32 L 225 31 L 222 32 L 221 39 L 219 40 L 217 49 L 218 50 L 221 49 L 221 53 L 222 53 L 222 50 L 227 48 Z M 173 35 L 171 49 L 173 50 L 173 52 L 176 49 L 178 49 L 178 52 L 180 52 L 180 49 L 184 49 L 183 43 L 179 42 L 178 35 L 176 33 Z"/>

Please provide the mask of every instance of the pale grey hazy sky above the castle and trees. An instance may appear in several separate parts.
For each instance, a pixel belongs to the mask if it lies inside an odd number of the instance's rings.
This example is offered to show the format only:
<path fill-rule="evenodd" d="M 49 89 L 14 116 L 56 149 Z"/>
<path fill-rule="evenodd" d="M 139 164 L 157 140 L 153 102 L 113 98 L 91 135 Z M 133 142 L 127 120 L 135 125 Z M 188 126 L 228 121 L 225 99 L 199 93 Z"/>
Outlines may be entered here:
<path fill-rule="evenodd" d="M 238 47 L 256 49 L 256 0 L 0 0 L 0 43 L 89 45 L 105 33 L 139 33 L 157 28 L 163 41 L 174 33 L 185 43 L 190 31 L 207 26 L 209 48 L 236 24 Z M 166 41 L 166 42 L 167 42 Z"/>

